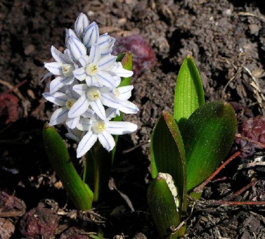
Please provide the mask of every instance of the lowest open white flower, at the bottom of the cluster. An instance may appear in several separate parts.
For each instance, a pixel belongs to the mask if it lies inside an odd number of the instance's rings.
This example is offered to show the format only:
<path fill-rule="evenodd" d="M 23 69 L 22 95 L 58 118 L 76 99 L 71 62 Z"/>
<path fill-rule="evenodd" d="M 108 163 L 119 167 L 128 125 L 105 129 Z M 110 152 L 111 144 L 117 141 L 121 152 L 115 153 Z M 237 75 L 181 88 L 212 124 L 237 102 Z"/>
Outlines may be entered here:
<path fill-rule="evenodd" d="M 137 129 L 137 125 L 124 121 L 109 121 L 101 119 L 81 119 L 80 127 L 82 130 L 88 130 L 77 147 L 77 157 L 82 157 L 99 139 L 102 146 L 111 151 L 115 146 L 115 140 L 112 134 L 131 133 Z"/>

